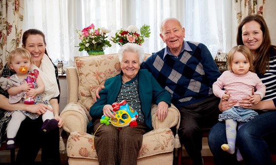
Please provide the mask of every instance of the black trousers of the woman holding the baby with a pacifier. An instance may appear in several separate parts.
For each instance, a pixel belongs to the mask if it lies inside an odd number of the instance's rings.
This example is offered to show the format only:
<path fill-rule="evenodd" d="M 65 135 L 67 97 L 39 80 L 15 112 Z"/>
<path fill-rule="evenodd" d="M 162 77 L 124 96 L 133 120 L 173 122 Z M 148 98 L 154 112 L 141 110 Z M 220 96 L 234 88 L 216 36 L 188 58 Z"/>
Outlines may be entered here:
<path fill-rule="evenodd" d="M 21 123 L 16 135 L 20 145 L 16 165 L 34 165 L 40 148 L 42 165 L 60 165 L 59 129 L 43 132 L 42 124 L 41 116 L 35 120 L 26 118 Z"/>

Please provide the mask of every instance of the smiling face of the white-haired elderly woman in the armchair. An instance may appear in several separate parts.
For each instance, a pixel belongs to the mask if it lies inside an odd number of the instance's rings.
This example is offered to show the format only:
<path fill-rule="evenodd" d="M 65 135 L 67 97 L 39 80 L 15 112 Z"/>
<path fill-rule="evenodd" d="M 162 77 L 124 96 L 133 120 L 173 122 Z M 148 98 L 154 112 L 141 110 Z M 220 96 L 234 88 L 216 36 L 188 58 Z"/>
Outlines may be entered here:
<path fill-rule="evenodd" d="M 140 68 L 138 54 L 134 52 L 124 52 L 121 68 L 127 80 L 134 78 Z"/>

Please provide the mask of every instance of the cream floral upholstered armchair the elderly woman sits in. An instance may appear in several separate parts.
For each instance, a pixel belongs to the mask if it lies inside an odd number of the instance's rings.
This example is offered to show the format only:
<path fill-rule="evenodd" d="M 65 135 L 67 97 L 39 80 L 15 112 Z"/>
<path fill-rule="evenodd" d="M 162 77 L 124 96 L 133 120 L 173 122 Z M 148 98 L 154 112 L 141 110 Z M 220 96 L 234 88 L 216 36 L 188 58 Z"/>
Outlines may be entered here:
<path fill-rule="evenodd" d="M 146 54 L 146 57 L 149 57 Z M 99 165 L 93 135 L 86 132 L 91 120 L 89 108 L 94 103 L 99 85 L 121 71 L 118 54 L 77 57 L 74 66 L 67 68 L 68 104 L 60 117 L 63 130 L 68 132 L 66 152 L 69 165 Z M 157 105 L 152 104 L 153 130 L 143 135 L 138 154 L 138 165 L 173 165 L 174 135 L 170 128 L 179 127 L 179 111 L 172 106 L 164 121 L 156 115 Z"/>

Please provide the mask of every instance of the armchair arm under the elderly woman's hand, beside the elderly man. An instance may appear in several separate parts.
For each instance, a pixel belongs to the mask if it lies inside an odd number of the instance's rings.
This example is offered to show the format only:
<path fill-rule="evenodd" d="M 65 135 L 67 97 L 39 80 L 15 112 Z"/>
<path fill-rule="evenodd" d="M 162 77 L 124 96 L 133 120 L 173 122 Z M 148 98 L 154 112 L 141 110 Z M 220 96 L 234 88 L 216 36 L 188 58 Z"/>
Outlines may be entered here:
<path fill-rule="evenodd" d="M 157 112 L 157 105 L 156 104 L 152 104 L 151 106 L 151 122 L 152 122 L 152 127 L 153 129 L 159 129 L 159 128 L 172 128 L 174 126 L 176 126 L 176 128 L 178 129 L 179 127 L 179 119 L 180 119 L 180 113 L 178 111 L 178 109 L 171 104 L 171 107 L 168 109 L 168 114 L 165 120 L 160 121 L 158 119 L 158 116 L 156 114 Z"/>

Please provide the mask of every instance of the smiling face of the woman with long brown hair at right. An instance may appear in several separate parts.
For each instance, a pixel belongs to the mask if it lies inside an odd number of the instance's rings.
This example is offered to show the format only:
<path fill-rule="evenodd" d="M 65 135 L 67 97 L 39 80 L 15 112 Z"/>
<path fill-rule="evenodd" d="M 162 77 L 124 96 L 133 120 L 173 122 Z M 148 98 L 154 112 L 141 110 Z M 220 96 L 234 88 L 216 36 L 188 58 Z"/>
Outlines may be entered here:
<path fill-rule="evenodd" d="M 263 32 L 258 22 L 250 21 L 242 26 L 242 42 L 254 56 L 263 42 Z"/>

